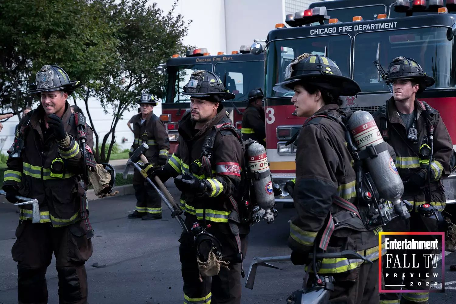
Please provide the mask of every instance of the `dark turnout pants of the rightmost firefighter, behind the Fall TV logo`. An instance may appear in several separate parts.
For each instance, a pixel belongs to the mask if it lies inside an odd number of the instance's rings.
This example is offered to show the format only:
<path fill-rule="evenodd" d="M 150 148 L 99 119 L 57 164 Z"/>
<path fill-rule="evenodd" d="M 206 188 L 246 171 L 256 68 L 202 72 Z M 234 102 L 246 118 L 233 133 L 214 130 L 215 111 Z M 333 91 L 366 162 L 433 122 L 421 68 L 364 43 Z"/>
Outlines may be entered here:
<path fill-rule="evenodd" d="M 427 232 L 424 223 L 421 221 L 420 215 L 417 212 L 411 212 L 410 213 L 410 218 L 407 220 L 402 220 L 396 217 L 393 219 L 391 222 L 389 222 L 385 227 L 383 227 L 384 231 L 389 231 L 389 232 Z M 411 238 L 410 236 L 396 236 L 397 239 L 405 239 L 405 238 Z M 434 240 L 435 237 L 429 236 L 429 240 L 432 241 Z M 440 242 L 439 242 L 440 244 Z M 440 246 L 440 245 L 439 245 Z M 399 254 L 399 257 L 402 257 L 402 254 L 407 253 L 406 250 L 395 250 L 394 252 L 397 252 Z M 387 252 L 388 253 L 388 252 Z M 393 278 L 389 279 L 388 283 L 389 284 L 394 284 L 394 285 L 404 285 L 402 289 L 423 289 L 423 292 L 421 293 L 401 293 L 401 294 L 395 294 L 395 293 L 384 293 L 380 294 L 380 304 L 415 304 L 415 303 L 420 303 L 420 304 L 427 304 L 429 301 L 429 292 L 426 290 L 430 289 L 431 285 L 431 280 L 433 278 L 432 276 L 432 268 L 428 268 L 428 273 L 429 277 L 423 277 L 422 271 L 419 271 L 420 269 L 422 270 L 425 265 L 425 258 L 423 254 L 425 253 L 438 253 L 438 252 L 433 252 L 433 250 L 413 250 L 413 253 L 415 253 L 415 265 L 420 264 L 420 268 L 418 268 L 418 271 L 414 272 L 414 268 L 407 268 L 407 270 L 404 271 L 406 274 L 404 278 L 398 276 L 398 278 Z M 386 256 L 383 257 L 382 259 L 382 267 L 385 269 L 386 267 Z M 393 261 L 394 262 L 394 261 Z M 403 262 L 401 262 L 403 263 Z M 413 265 L 414 261 L 411 256 L 407 255 L 405 264 L 408 265 Z M 413 273 L 413 277 L 410 276 L 410 273 Z M 421 273 L 421 277 L 419 277 L 419 273 Z M 400 288 L 400 287 L 399 287 Z M 398 289 L 398 287 L 389 287 L 385 286 L 385 289 Z"/>

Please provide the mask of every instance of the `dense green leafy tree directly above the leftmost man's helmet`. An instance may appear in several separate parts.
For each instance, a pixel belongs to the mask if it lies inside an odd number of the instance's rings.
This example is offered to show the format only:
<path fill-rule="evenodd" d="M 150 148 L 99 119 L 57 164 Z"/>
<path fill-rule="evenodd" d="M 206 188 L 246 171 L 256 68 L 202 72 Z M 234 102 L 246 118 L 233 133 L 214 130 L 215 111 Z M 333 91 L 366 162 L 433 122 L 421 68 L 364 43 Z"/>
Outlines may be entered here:
<path fill-rule="evenodd" d="M 92 93 L 114 66 L 119 40 L 110 24 L 114 0 L 0 0 L 0 101 L 19 113 L 31 106 L 28 86 L 48 64 Z M 84 96 L 85 96 L 84 95 Z"/>

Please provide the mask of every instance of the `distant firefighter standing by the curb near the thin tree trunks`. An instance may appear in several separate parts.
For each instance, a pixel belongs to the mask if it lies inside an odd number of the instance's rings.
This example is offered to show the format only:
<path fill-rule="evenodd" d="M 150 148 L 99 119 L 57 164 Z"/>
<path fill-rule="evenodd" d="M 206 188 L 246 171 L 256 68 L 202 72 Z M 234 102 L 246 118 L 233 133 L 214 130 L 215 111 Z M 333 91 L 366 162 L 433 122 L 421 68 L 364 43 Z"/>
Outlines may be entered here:
<path fill-rule="evenodd" d="M 143 93 L 138 101 L 141 113 L 133 116 L 133 133 L 135 142 L 131 146 L 130 156 L 142 143 L 149 146 L 145 153 L 148 160 L 143 168 L 157 168 L 166 164 L 170 144 L 165 124 L 152 112 L 157 105 L 154 97 L 149 93 Z M 136 209 L 128 215 L 128 218 L 141 218 L 145 221 L 161 219 L 161 197 L 141 175 L 135 170 L 133 175 L 133 188 L 136 196 Z"/>

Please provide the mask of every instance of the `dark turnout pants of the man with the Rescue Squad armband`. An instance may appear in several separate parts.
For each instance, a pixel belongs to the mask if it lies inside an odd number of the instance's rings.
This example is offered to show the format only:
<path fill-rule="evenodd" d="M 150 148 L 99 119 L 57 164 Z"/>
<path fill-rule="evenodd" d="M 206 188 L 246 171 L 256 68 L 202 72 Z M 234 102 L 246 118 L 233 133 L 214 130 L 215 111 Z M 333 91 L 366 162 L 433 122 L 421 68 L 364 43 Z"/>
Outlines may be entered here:
<path fill-rule="evenodd" d="M 194 221 L 190 220 L 193 218 Z M 187 215 L 185 220 L 190 231 L 196 222 L 195 216 Z M 228 226 L 228 224 L 227 224 Z M 227 228 L 229 230 L 229 228 Z M 223 233 L 216 227 L 207 229 L 223 246 L 223 261 L 229 261 L 228 269 L 221 267 L 218 275 L 213 277 L 200 276 L 197 264 L 197 252 L 191 232 L 182 232 L 179 242 L 182 278 L 184 280 L 184 304 L 240 304 L 241 303 L 241 263 L 233 259 L 238 254 L 238 247 L 233 234 Z M 240 235 L 241 251 L 245 257 L 247 251 L 247 235 Z"/>

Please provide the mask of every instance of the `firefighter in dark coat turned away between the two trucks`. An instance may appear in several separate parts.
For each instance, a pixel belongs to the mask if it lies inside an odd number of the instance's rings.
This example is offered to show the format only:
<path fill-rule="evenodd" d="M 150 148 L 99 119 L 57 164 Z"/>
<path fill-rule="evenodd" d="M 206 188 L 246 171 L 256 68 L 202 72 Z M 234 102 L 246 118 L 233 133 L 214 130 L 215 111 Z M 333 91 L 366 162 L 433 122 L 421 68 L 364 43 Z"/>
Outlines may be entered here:
<path fill-rule="evenodd" d="M 266 125 L 264 124 L 263 90 L 253 89 L 249 92 L 249 105 L 242 115 L 242 140 L 249 138 L 266 147 Z"/>

